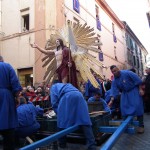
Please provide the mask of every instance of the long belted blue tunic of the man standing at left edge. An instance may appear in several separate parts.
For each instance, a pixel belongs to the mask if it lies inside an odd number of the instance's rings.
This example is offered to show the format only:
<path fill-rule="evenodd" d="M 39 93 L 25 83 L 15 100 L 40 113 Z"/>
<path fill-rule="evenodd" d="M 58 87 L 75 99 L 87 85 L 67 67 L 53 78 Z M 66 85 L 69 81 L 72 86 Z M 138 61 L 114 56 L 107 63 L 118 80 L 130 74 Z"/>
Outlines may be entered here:
<path fill-rule="evenodd" d="M 14 95 L 22 87 L 10 64 L 0 62 L 0 130 L 18 125 Z"/>

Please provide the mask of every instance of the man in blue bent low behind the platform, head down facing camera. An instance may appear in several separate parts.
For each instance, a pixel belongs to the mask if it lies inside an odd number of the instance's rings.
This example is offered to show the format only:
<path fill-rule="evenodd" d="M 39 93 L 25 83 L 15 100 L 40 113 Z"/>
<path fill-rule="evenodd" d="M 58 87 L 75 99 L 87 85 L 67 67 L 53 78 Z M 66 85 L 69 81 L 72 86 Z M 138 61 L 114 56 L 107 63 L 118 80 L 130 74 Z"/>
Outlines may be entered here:
<path fill-rule="evenodd" d="M 91 103 L 91 102 L 102 102 L 103 110 L 107 111 L 107 112 L 111 112 L 110 108 L 108 107 L 108 105 L 105 102 L 105 100 L 103 98 L 101 98 L 101 94 L 100 93 L 95 93 L 93 97 L 90 97 L 88 99 L 88 103 Z"/>

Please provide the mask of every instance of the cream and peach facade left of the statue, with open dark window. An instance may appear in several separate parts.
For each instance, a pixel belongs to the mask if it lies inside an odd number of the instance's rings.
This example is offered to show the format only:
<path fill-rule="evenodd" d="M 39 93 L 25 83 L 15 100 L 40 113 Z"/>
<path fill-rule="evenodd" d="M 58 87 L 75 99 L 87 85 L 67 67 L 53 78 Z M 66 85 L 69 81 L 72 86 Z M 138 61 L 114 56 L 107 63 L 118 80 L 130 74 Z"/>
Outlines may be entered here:
<path fill-rule="evenodd" d="M 0 54 L 16 70 L 22 86 L 43 82 L 43 54 L 31 43 L 45 46 L 49 28 L 62 26 L 61 0 L 5 0 L 1 3 Z M 58 17 L 59 16 L 59 17 Z"/>

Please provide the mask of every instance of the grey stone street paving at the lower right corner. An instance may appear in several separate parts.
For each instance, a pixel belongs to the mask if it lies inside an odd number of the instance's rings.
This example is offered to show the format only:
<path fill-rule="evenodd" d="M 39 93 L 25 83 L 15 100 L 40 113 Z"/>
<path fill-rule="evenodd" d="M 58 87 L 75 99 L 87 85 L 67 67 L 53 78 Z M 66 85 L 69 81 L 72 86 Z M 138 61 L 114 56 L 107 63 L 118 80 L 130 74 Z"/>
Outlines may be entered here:
<path fill-rule="evenodd" d="M 144 134 L 122 134 L 112 150 L 150 150 L 150 115 L 144 115 Z M 102 146 L 97 147 L 100 150 Z M 84 150 L 83 145 L 69 144 L 68 150 Z"/>

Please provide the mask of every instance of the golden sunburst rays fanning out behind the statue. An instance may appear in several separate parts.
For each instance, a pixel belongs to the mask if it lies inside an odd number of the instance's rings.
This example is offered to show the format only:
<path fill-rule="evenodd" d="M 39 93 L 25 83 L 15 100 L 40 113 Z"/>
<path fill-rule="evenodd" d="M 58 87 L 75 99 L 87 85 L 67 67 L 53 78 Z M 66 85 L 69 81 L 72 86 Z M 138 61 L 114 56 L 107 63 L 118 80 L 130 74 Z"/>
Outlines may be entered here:
<path fill-rule="evenodd" d="M 70 33 L 70 34 L 69 34 Z M 90 51 L 100 52 L 98 46 L 101 43 L 98 42 L 98 38 L 95 36 L 94 28 L 87 26 L 87 23 L 80 24 L 72 23 L 68 21 L 67 26 L 62 29 L 55 30 L 54 34 L 50 35 L 50 39 L 47 41 L 45 48 L 47 50 L 56 49 L 56 40 L 62 39 L 65 45 L 70 45 L 70 48 L 77 47 L 77 51 L 72 51 L 72 57 L 75 61 L 76 68 L 80 72 L 84 81 L 91 81 L 94 87 L 98 88 L 99 84 L 91 73 L 92 69 L 101 78 L 103 78 L 98 68 L 102 68 L 103 64 L 97 60 Z M 70 43 L 70 41 L 72 42 Z M 55 72 L 57 69 L 55 55 L 46 55 L 42 58 L 43 67 L 46 67 L 44 80 L 46 83 L 51 82 L 55 78 Z"/>

